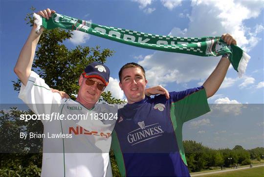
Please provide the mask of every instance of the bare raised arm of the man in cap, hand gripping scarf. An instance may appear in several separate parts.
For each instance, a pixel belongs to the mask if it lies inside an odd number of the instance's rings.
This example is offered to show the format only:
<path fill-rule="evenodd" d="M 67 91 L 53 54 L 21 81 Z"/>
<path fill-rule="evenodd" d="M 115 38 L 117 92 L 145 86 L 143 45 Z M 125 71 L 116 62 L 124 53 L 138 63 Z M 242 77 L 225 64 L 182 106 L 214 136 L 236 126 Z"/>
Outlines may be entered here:
<path fill-rule="evenodd" d="M 37 14 L 46 19 L 49 19 L 49 17 L 51 17 L 51 13 L 55 13 L 55 11 L 47 8 L 46 10 L 39 11 Z M 40 33 L 37 34 L 35 30 L 36 25 L 34 24 L 24 46 L 22 47 L 16 66 L 14 67 L 15 73 L 17 74 L 23 85 L 26 85 L 31 73 L 31 67 L 34 60 L 36 47 L 43 32 L 43 29 L 41 29 Z"/>

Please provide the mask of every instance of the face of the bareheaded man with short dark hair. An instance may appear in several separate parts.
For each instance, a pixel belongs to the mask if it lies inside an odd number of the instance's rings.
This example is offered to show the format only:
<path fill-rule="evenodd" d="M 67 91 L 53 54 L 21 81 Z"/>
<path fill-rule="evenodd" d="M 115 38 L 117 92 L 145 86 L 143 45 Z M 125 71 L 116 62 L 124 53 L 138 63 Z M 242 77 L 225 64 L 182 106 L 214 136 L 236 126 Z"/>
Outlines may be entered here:
<path fill-rule="evenodd" d="M 138 67 L 129 67 L 123 70 L 120 88 L 124 91 L 128 103 L 141 101 L 145 98 L 145 88 L 148 81 Z"/>

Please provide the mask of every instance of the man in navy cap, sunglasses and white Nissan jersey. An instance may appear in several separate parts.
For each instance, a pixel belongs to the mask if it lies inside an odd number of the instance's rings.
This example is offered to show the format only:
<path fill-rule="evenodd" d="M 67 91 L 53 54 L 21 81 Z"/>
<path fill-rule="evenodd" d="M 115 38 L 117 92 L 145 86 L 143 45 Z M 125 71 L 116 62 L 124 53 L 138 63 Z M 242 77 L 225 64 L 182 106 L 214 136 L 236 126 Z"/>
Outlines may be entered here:
<path fill-rule="evenodd" d="M 51 13 L 55 11 L 46 9 L 38 12 L 44 18 L 51 17 Z M 44 125 L 41 175 L 105 177 L 110 164 L 111 132 L 116 120 L 101 121 L 89 117 L 85 120 L 84 129 L 75 123 L 73 117 L 88 115 L 92 111 L 117 111 L 117 105 L 96 104 L 109 83 L 110 70 L 102 63 L 91 63 L 80 75 L 76 101 L 62 99 L 58 93 L 52 93 L 37 73 L 31 71 L 35 50 L 43 32 L 41 29 L 40 34 L 36 34 L 35 29 L 36 25 L 21 50 L 14 71 L 22 82 L 19 97 L 35 114 L 49 115 L 48 118 L 41 117 Z M 60 116 L 52 118 L 54 113 Z"/>

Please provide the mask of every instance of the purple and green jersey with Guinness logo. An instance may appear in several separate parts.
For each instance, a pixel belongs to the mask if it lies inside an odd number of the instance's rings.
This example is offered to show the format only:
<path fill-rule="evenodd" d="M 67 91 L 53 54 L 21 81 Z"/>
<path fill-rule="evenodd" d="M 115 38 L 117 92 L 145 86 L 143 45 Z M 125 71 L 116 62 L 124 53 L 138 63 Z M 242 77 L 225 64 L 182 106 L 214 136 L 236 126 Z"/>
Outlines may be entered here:
<path fill-rule="evenodd" d="M 183 123 L 210 111 L 203 87 L 146 97 L 118 110 L 112 133 L 122 176 L 190 176 L 182 145 Z"/>

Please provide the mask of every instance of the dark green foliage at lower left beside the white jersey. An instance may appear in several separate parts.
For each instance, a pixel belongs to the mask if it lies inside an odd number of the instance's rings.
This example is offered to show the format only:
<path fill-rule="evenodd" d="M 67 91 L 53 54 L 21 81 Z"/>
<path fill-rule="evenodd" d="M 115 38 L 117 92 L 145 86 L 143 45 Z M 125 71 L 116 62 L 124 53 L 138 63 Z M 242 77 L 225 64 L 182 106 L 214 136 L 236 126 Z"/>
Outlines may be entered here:
<path fill-rule="evenodd" d="M 1 153 L 12 153 L 0 154 L 0 177 L 36 177 L 41 174 L 42 139 L 24 140 L 19 134 L 42 133 L 43 124 L 34 120 L 21 121 L 19 119 L 21 114 L 33 114 L 33 112 L 21 111 L 17 108 L 10 108 L 7 112 L 0 111 Z"/>

